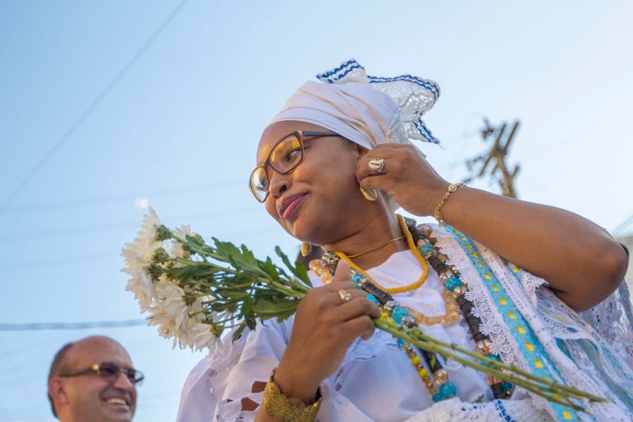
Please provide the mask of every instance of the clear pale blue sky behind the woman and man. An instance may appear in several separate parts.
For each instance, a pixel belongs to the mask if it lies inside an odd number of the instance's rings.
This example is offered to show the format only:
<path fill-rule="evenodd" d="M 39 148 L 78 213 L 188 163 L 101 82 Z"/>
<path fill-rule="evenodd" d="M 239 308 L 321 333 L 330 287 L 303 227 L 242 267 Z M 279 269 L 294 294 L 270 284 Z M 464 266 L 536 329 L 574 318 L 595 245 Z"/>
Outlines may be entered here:
<path fill-rule="evenodd" d="M 440 84 L 426 123 L 443 147 L 422 148 L 445 179 L 486 148 L 482 117 L 519 119 L 520 198 L 627 234 L 632 18 L 627 1 L 1 0 L 0 324 L 142 319 L 119 253 L 143 200 L 170 226 L 295 253 L 246 187 L 257 140 L 352 57 Z M 53 420 L 51 358 L 93 333 L 146 373 L 135 420 L 173 421 L 202 354 L 142 325 L 0 331 L 0 419 Z"/>

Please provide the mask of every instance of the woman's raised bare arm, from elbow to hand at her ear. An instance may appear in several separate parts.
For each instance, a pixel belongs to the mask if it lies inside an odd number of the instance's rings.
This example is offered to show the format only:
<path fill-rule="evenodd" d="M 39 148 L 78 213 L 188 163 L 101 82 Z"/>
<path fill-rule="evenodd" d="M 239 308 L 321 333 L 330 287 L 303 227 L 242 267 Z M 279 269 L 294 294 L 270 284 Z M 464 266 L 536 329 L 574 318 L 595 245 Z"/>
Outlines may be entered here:
<path fill-rule="evenodd" d="M 377 174 L 369 163 L 381 167 L 381 158 L 382 171 Z M 433 215 L 449 187 L 412 145 L 378 145 L 359 158 L 356 177 L 362 188 L 389 193 L 419 216 Z M 547 280 L 558 298 L 579 312 L 613 293 L 627 269 L 625 250 L 605 230 L 560 208 L 460 188 L 442 207 L 442 217 L 509 262 Z"/>

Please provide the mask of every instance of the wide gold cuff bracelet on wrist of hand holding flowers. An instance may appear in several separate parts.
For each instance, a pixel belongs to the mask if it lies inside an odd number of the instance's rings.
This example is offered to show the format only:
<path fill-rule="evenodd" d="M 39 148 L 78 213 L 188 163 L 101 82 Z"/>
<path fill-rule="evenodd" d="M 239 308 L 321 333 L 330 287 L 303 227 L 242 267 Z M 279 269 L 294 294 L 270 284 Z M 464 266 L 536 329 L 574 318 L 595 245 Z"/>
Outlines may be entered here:
<path fill-rule="evenodd" d="M 275 370 L 276 368 L 270 373 L 270 378 L 264 388 L 264 397 L 262 397 L 262 405 L 266 413 L 281 422 L 314 422 L 323 399 L 321 388 L 316 390 L 316 401 L 313 404 L 305 404 L 300 399 L 286 397 L 279 389 L 279 385 L 273 381 Z"/>

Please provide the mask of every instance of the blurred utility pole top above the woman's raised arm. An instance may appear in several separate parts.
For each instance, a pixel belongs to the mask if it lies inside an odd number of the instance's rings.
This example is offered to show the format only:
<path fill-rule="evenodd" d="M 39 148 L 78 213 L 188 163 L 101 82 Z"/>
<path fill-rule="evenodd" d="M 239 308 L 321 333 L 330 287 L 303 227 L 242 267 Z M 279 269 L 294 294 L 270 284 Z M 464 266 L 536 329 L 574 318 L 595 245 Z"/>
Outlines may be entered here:
<path fill-rule="evenodd" d="M 514 178 L 519 171 L 519 166 L 516 165 L 513 170 L 509 170 L 505 159 L 506 155 L 508 155 L 510 143 L 512 142 L 512 139 L 516 134 L 516 130 L 518 129 L 519 121 L 515 120 L 508 134 L 506 134 L 506 123 L 501 124 L 500 127 L 492 127 L 490 126 L 490 122 L 484 118 L 484 125 L 485 127 L 481 130 L 483 141 L 487 142 L 490 136 L 494 136 L 494 144 L 492 145 L 492 148 L 490 148 L 490 151 L 488 151 L 487 155 L 482 154 L 475 158 L 466 160 L 466 167 L 468 168 L 468 171 L 471 172 L 471 176 L 464 180 L 464 182 L 467 183 L 475 178 L 484 177 L 487 170 L 492 169 L 490 170 L 490 177 L 497 179 L 503 195 L 509 196 L 510 198 L 516 198 Z M 483 165 L 480 170 L 476 170 L 475 167 L 480 162 L 483 162 Z"/>

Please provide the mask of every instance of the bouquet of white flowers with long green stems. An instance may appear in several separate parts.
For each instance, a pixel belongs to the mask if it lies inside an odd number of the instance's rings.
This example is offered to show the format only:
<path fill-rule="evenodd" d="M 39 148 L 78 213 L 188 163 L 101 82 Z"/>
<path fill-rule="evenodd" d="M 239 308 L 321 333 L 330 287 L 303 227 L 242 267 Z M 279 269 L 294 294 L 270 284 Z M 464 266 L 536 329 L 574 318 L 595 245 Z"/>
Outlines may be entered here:
<path fill-rule="evenodd" d="M 234 340 L 245 328 L 254 330 L 257 320 L 292 316 L 307 290 L 312 288 L 302 264 L 292 264 L 276 248 L 286 269 L 267 257 L 257 260 L 245 245 L 203 238 L 183 225 L 170 230 L 160 223 L 152 208 L 143 217 L 138 237 L 126 243 L 122 256 L 129 274 L 127 290 L 139 301 L 141 313 L 148 312 L 148 325 L 158 326 L 162 337 L 174 338 L 172 347 L 222 347 L 224 331 L 234 330 Z M 582 400 L 605 401 L 601 397 L 543 380 L 517 366 L 489 359 L 476 352 L 441 342 L 417 326 L 405 328 L 390 318 L 374 324 L 421 350 L 441 354 L 465 366 L 482 371 L 551 402 L 584 411 Z"/>

